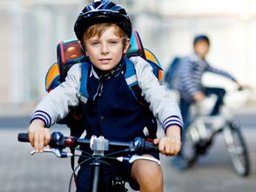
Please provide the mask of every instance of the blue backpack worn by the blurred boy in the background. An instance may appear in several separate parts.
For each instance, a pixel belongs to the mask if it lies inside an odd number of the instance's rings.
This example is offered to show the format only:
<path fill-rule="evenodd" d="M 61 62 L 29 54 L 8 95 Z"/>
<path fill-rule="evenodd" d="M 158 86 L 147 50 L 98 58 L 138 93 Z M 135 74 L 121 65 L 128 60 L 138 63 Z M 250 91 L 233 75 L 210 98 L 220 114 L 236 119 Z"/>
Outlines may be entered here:
<path fill-rule="evenodd" d="M 165 83 L 167 84 L 167 87 L 169 89 L 178 89 L 178 70 L 179 70 L 179 64 L 182 60 L 182 57 L 175 56 L 172 59 L 172 62 L 169 65 L 169 68 L 167 72 L 165 73 Z"/>

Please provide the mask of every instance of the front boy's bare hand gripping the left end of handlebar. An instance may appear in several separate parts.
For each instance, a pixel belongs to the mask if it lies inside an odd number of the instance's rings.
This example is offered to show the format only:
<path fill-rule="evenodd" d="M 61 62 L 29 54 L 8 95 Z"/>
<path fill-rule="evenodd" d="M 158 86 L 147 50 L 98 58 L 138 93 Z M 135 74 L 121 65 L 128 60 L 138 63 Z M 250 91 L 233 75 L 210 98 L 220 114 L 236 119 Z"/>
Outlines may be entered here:
<path fill-rule="evenodd" d="M 31 122 L 29 130 L 29 140 L 32 147 L 38 153 L 42 153 L 43 149 L 51 140 L 50 130 L 44 128 L 44 122 L 42 120 L 36 119 Z"/>

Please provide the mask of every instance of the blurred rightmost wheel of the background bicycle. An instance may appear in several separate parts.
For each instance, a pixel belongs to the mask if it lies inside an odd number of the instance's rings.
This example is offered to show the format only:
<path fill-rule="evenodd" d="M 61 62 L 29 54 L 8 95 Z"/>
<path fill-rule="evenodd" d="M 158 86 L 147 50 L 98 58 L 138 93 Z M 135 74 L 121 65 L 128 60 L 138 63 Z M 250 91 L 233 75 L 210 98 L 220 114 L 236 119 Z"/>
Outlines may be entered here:
<path fill-rule="evenodd" d="M 242 176 L 250 174 L 250 161 L 246 142 L 242 136 L 239 124 L 229 122 L 224 129 L 226 147 L 232 158 L 232 166 L 235 171 Z"/>

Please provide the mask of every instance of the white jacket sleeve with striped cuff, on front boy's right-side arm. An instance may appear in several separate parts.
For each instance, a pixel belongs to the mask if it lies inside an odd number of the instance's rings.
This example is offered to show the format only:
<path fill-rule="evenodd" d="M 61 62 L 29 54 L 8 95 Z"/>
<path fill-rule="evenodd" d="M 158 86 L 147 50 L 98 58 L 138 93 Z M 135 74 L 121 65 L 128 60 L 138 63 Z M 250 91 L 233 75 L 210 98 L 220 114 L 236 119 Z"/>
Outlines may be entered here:
<path fill-rule="evenodd" d="M 183 122 L 178 103 L 165 85 L 158 82 L 153 74 L 152 66 L 139 56 L 131 57 L 131 62 L 135 66 L 142 96 L 150 104 L 149 108 L 163 129 L 171 125 L 178 125 L 182 129 Z"/>

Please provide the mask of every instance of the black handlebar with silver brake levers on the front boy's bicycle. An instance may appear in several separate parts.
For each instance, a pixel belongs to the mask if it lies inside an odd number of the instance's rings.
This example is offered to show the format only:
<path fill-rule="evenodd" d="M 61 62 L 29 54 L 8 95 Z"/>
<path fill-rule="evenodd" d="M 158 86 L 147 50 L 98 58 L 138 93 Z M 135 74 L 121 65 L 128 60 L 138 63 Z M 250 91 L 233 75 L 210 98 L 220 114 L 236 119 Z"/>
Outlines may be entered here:
<path fill-rule="evenodd" d="M 28 133 L 19 133 L 17 135 L 17 140 L 19 142 L 30 142 L 29 141 L 29 135 Z M 96 172 L 95 174 L 99 174 L 99 165 L 100 164 L 109 164 L 108 162 L 105 162 L 107 159 L 115 159 L 118 162 L 136 162 L 138 160 L 146 160 L 158 163 L 160 165 L 160 161 L 156 159 L 153 156 L 138 156 L 136 153 L 132 152 L 143 152 L 143 151 L 159 151 L 158 146 L 155 146 L 152 142 L 147 142 L 145 139 L 137 137 L 134 139 L 134 141 L 131 142 L 118 142 L 118 141 L 110 141 L 105 139 L 103 136 L 91 136 L 91 139 L 80 139 L 74 136 L 64 136 L 61 132 L 53 132 L 51 134 L 51 141 L 49 142 L 49 146 L 52 149 L 44 149 L 44 153 L 52 153 L 60 158 L 66 158 L 66 157 L 74 157 L 75 153 L 68 153 L 63 151 L 65 148 L 71 148 L 71 149 L 77 149 L 77 146 L 80 147 L 89 147 L 93 151 L 93 154 L 86 153 L 86 151 L 83 151 L 84 154 L 82 155 L 85 159 L 82 162 L 78 162 L 77 167 L 73 169 L 72 176 L 75 175 L 75 172 L 79 166 L 81 166 L 83 163 L 88 163 L 92 161 L 91 168 L 94 169 Z M 115 149 L 118 148 L 118 150 L 110 151 L 107 155 L 104 155 L 104 151 L 108 151 L 109 149 Z M 31 151 L 31 155 L 34 155 L 36 153 L 35 150 Z M 85 155 L 85 156 L 84 156 Z M 125 155 L 125 156 L 124 156 Z M 126 156 L 127 155 L 127 156 Z M 131 156 L 130 156 L 131 155 Z M 74 159 L 71 159 L 74 161 Z M 97 166 L 97 168 L 95 167 Z M 71 176 L 71 178 L 72 178 Z M 98 179 L 98 175 L 96 175 L 93 178 Z M 97 180 L 95 179 L 95 180 Z M 70 180 L 71 181 L 71 180 Z M 93 182 L 96 183 L 96 182 Z M 70 188 L 71 191 L 71 182 L 70 182 Z M 94 191 L 94 190 L 93 190 Z"/>

